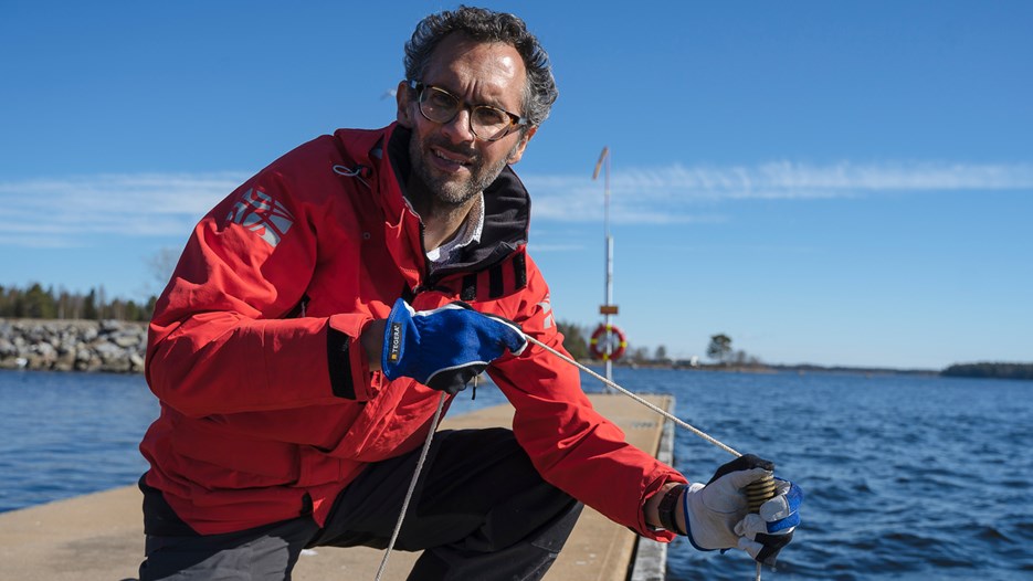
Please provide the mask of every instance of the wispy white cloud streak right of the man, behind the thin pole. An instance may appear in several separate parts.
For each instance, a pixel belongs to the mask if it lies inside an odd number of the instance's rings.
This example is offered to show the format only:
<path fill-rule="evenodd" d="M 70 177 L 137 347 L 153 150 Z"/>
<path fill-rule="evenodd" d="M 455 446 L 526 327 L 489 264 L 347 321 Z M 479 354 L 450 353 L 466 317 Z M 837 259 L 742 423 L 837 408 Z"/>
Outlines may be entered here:
<path fill-rule="evenodd" d="M 527 176 L 540 220 L 602 218 L 601 179 L 588 176 Z M 1033 165 L 942 162 L 810 166 L 789 161 L 759 166 L 673 165 L 614 173 L 610 218 L 618 223 L 719 222 L 702 213 L 732 200 L 821 200 L 881 192 L 1033 189 Z"/>

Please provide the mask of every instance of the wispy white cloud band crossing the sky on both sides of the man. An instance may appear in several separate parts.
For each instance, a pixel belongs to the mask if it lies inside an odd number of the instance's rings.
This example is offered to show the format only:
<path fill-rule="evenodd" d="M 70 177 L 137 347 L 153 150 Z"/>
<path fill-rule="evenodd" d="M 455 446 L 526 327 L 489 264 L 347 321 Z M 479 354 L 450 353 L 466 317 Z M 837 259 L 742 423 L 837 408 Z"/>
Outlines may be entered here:
<path fill-rule="evenodd" d="M 72 246 L 88 235 L 183 236 L 246 176 L 97 175 L 0 181 L 0 244 Z M 598 221 L 602 180 L 527 175 L 537 221 Z M 819 200 L 881 192 L 1033 190 L 1033 163 L 944 162 L 632 168 L 611 176 L 615 223 L 721 222 L 720 202 Z"/>

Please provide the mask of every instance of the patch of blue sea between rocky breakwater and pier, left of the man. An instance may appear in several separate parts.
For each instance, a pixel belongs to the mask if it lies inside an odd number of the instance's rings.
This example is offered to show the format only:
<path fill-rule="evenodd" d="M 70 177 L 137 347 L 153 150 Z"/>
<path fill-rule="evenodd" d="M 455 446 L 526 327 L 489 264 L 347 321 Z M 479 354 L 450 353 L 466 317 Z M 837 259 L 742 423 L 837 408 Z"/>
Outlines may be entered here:
<path fill-rule="evenodd" d="M 135 483 L 157 416 L 140 376 L 0 370 L 0 511 Z"/>

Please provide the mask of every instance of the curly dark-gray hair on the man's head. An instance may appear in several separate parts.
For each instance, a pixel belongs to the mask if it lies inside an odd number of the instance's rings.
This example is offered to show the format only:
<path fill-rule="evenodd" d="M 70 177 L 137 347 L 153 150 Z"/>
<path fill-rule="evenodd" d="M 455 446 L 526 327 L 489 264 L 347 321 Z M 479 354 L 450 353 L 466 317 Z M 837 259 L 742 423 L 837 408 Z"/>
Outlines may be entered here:
<path fill-rule="evenodd" d="M 405 76 L 422 81 L 438 44 L 453 32 L 477 42 L 500 42 L 516 49 L 527 68 L 524 86 L 524 117 L 538 126 L 549 116 L 549 109 L 559 94 L 549 64 L 549 55 L 527 30 L 527 24 L 515 14 L 494 12 L 484 8 L 461 6 L 458 10 L 431 14 L 417 24 L 412 38 L 405 43 Z"/>

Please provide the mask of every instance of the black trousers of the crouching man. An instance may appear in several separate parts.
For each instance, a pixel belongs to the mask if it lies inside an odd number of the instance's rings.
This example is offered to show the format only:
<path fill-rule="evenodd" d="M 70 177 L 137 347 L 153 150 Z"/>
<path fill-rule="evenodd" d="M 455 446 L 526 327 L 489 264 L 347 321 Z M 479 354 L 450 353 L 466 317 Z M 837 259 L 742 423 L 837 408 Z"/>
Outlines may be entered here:
<path fill-rule="evenodd" d="M 418 458 L 415 451 L 369 466 L 338 496 L 324 528 L 301 517 L 226 535 L 156 535 L 146 525 L 167 524 L 168 505 L 145 489 L 140 580 L 289 580 L 302 549 L 386 548 Z M 580 503 L 541 479 L 509 430 L 443 431 L 396 549 L 423 550 L 410 580 L 536 580 L 580 513 Z"/>

